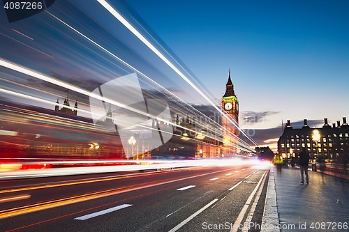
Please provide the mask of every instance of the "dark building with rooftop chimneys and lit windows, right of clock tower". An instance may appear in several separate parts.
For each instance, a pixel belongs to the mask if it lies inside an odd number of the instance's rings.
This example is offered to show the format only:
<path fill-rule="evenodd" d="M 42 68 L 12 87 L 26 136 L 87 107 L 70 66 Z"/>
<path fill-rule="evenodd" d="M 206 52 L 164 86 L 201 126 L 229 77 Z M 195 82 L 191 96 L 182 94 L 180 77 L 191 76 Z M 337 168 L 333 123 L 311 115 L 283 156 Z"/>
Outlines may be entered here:
<path fill-rule="evenodd" d="M 318 137 L 315 136 L 318 134 Z M 343 117 L 340 121 L 328 124 L 327 118 L 320 128 L 311 128 L 304 119 L 304 125 L 300 129 L 294 129 L 290 120 L 287 121 L 283 134 L 278 141 L 278 153 L 283 157 L 296 157 L 302 148 L 306 148 L 311 160 L 325 160 L 325 162 L 343 163 L 349 157 L 349 125 Z"/>

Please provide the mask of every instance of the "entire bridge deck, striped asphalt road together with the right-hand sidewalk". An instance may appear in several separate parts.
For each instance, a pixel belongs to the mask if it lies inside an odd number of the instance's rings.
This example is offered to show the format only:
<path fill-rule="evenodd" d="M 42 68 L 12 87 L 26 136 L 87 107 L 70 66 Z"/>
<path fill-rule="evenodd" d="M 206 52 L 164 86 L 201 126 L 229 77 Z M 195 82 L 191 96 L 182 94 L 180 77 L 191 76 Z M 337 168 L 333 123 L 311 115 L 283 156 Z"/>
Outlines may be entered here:
<path fill-rule="evenodd" d="M 5 180 L 0 200 L 23 199 L 0 202 L 0 231 L 349 231 L 349 180 L 309 177 L 243 164 Z"/>

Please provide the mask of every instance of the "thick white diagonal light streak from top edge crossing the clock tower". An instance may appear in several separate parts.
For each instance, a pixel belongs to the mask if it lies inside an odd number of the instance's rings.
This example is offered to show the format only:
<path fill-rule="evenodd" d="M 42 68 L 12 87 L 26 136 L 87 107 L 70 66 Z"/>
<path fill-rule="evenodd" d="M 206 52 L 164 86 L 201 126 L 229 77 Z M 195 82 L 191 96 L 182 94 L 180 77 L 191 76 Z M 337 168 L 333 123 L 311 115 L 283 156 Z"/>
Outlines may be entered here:
<path fill-rule="evenodd" d="M 144 38 L 144 36 L 142 36 L 142 34 L 140 32 L 138 32 L 137 29 L 135 29 L 124 17 L 122 17 L 117 12 L 117 10 L 112 8 L 112 6 L 110 6 L 110 4 L 107 3 L 105 0 L 97 0 L 97 1 L 99 3 L 101 3 L 101 5 L 107 11 L 109 11 L 117 20 L 119 20 L 119 22 L 124 24 L 124 26 L 126 26 L 126 28 L 129 31 L 131 31 L 137 38 L 139 38 L 144 43 L 144 45 L 147 45 L 147 47 L 149 47 L 149 49 L 151 49 L 151 51 L 153 51 L 160 59 L 162 59 L 167 65 L 169 65 L 170 68 L 172 68 L 172 70 L 174 70 L 174 72 L 176 72 L 179 75 L 179 77 L 184 79 L 191 87 L 193 87 L 195 89 L 195 91 L 197 91 L 203 98 L 205 98 L 205 100 L 207 100 L 207 102 L 209 102 L 209 104 L 211 104 L 211 106 L 213 106 L 219 113 L 221 113 L 223 116 L 225 116 L 223 111 L 221 111 L 221 109 L 219 109 L 216 106 L 216 104 L 214 104 L 214 102 L 211 101 L 211 99 L 207 98 L 207 95 L 202 93 L 202 91 L 197 86 L 195 86 L 195 84 L 193 84 L 193 82 L 191 82 L 188 79 L 188 77 L 186 77 L 176 66 L 174 66 L 165 56 L 163 56 L 163 54 L 161 54 L 161 52 L 158 51 L 158 49 L 156 49 L 156 47 L 154 47 L 154 45 L 152 45 L 146 38 Z M 242 134 L 244 134 L 246 136 L 246 138 L 248 138 L 253 144 L 255 144 L 257 146 L 255 141 L 253 141 L 253 139 L 248 137 L 248 135 L 242 129 L 239 128 L 239 125 L 237 125 L 235 122 L 233 122 L 228 116 L 225 116 L 225 118 L 227 118 L 228 121 L 230 121 L 230 123 L 232 123 L 232 125 L 235 125 L 235 127 L 237 127 L 237 129 L 240 132 L 242 132 Z"/>

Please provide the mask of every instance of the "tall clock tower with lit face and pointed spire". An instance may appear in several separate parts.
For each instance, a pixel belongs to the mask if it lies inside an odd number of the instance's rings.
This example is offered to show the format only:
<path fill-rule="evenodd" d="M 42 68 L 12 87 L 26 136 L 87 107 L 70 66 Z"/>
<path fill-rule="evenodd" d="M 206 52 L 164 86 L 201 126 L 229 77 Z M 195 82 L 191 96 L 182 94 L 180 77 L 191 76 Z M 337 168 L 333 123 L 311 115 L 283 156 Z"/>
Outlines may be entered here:
<path fill-rule="evenodd" d="M 239 101 L 234 92 L 232 79 L 230 79 L 230 70 L 228 82 L 225 85 L 225 93 L 222 98 L 222 111 L 227 116 L 222 116 L 224 153 L 237 153 L 239 150 L 237 148 L 239 146 L 239 130 L 233 123 L 239 125 Z"/>

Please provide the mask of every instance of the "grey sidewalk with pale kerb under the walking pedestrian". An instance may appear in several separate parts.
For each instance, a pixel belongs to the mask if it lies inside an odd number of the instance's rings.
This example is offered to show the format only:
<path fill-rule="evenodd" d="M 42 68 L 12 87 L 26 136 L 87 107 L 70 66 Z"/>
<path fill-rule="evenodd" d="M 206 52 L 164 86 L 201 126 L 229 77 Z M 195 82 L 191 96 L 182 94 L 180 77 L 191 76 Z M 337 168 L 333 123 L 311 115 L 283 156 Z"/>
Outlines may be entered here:
<path fill-rule="evenodd" d="M 300 180 L 297 167 L 272 167 L 262 224 L 278 223 L 279 231 L 349 231 L 349 180 L 311 170 L 309 185 Z"/>

